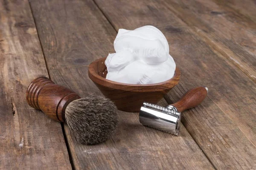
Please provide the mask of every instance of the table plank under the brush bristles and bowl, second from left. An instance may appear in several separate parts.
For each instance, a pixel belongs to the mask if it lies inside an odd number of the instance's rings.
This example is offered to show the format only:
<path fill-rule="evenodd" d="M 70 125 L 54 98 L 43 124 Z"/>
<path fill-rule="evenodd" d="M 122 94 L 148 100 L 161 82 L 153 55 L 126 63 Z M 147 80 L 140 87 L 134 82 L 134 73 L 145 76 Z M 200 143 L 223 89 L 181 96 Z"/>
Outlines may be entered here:
<path fill-rule="evenodd" d="M 95 3 L 45 0 L 31 6 L 53 81 L 81 96 L 101 95 L 87 69 L 113 51 L 116 31 Z M 116 135 L 98 145 L 76 144 L 65 126 L 75 169 L 213 169 L 184 127 L 177 137 L 140 125 L 138 113 L 119 116 Z"/>

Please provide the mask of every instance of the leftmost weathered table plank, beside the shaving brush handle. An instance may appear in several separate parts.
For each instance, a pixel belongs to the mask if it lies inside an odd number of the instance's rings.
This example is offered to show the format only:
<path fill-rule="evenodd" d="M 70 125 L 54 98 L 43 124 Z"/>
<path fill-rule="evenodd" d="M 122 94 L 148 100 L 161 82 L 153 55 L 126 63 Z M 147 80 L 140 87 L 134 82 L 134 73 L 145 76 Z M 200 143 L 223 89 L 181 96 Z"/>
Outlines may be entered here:
<path fill-rule="evenodd" d="M 71 169 L 61 124 L 29 107 L 25 93 L 47 69 L 26 0 L 0 1 L 0 169 Z"/>

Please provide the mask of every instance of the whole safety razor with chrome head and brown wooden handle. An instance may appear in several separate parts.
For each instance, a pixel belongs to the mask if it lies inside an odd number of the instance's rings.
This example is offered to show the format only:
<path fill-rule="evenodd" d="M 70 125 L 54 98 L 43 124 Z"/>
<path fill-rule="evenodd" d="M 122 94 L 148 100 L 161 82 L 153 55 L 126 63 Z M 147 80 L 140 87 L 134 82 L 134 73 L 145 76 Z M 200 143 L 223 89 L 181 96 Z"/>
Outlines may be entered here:
<path fill-rule="evenodd" d="M 140 108 L 140 123 L 142 125 L 179 135 L 181 113 L 199 105 L 208 94 L 207 87 L 192 88 L 180 100 L 166 107 L 143 103 Z"/>

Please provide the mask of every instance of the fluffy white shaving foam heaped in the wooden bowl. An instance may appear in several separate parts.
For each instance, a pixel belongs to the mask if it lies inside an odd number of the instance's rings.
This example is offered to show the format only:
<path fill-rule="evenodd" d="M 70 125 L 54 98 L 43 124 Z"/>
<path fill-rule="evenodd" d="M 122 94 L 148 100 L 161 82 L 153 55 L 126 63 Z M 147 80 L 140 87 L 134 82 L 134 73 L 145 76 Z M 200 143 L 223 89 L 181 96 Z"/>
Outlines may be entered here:
<path fill-rule="evenodd" d="M 119 29 L 114 40 L 116 53 L 105 60 L 106 79 L 128 84 L 153 84 L 171 79 L 175 62 L 169 54 L 169 44 L 154 26 L 135 30 Z"/>

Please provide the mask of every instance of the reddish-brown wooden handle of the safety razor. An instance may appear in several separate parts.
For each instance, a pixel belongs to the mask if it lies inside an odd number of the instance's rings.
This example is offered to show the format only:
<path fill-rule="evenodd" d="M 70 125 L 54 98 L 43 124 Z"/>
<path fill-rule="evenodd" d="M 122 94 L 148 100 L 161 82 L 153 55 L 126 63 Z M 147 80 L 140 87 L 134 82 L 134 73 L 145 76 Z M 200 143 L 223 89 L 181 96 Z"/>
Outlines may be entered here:
<path fill-rule="evenodd" d="M 172 104 L 177 108 L 179 112 L 183 112 L 187 109 L 194 108 L 195 106 L 199 105 L 205 97 L 207 96 L 208 88 L 207 87 L 197 87 L 192 88 L 184 94 L 181 99 Z"/>

